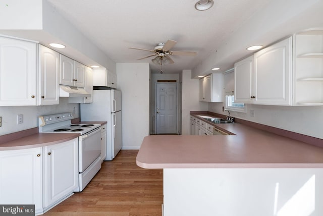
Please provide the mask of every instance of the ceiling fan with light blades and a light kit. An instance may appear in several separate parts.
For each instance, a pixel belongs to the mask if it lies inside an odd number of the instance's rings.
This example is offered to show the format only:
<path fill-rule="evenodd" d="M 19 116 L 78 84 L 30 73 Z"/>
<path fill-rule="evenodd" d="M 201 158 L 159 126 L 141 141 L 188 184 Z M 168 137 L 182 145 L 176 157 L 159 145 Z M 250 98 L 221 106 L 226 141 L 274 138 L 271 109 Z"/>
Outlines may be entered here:
<path fill-rule="evenodd" d="M 158 43 L 157 46 L 154 47 L 154 49 L 142 49 L 142 48 L 135 48 L 135 47 L 129 47 L 130 49 L 138 49 L 138 50 L 144 50 L 144 51 L 150 51 L 153 52 L 153 54 L 137 59 L 142 60 L 149 57 L 156 56 L 151 61 L 156 65 L 166 65 L 166 64 L 173 64 L 174 61 L 168 56 L 190 56 L 194 57 L 196 56 L 196 52 L 191 51 L 171 51 L 170 49 L 176 44 L 177 42 L 175 40 L 168 40 L 166 43 Z"/>

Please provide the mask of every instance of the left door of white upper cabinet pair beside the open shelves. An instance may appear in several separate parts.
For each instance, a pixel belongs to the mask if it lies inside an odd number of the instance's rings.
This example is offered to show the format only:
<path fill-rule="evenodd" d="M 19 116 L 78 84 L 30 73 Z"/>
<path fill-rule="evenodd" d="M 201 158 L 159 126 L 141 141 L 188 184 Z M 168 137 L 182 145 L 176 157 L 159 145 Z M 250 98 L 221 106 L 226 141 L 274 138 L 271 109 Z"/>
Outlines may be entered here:
<path fill-rule="evenodd" d="M 253 96 L 253 56 L 250 56 L 234 65 L 235 102 L 252 103 Z"/>

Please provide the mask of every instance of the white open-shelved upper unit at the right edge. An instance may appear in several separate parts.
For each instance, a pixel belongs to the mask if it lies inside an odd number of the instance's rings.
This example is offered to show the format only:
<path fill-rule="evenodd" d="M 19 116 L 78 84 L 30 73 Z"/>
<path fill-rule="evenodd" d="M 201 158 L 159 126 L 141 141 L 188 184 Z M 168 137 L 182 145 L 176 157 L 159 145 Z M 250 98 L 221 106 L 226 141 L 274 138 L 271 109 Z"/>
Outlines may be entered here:
<path fill-rule="evenodd" d="M 323 29 L 295 37 L 294 103 L 323 105 Z"/>

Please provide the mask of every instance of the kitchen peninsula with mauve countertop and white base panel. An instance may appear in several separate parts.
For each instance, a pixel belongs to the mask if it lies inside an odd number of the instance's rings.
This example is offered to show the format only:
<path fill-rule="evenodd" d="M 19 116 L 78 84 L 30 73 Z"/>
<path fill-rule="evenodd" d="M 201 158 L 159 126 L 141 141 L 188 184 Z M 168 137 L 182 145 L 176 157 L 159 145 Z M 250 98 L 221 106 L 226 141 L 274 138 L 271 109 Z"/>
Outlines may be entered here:
<path fill-rule="evenodd" d="M 164 170 L 164 216 L 323 214 L 323 148 L 221 127 L 236 135 L 144 138 L 137 165 Z"/>

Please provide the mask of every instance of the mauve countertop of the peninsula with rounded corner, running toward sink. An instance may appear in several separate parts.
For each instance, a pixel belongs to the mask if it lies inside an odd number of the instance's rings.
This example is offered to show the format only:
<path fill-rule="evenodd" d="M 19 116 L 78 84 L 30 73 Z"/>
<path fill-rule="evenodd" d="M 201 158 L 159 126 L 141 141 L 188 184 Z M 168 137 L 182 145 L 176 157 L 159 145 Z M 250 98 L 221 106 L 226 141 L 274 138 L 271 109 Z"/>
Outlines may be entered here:
<path fill-rule="evenodd" d="M 323 148 L 243 124 L 218 124 L 236 135 L 152 135 L 137 165 L 165 168 L 323 168 Z"/>

